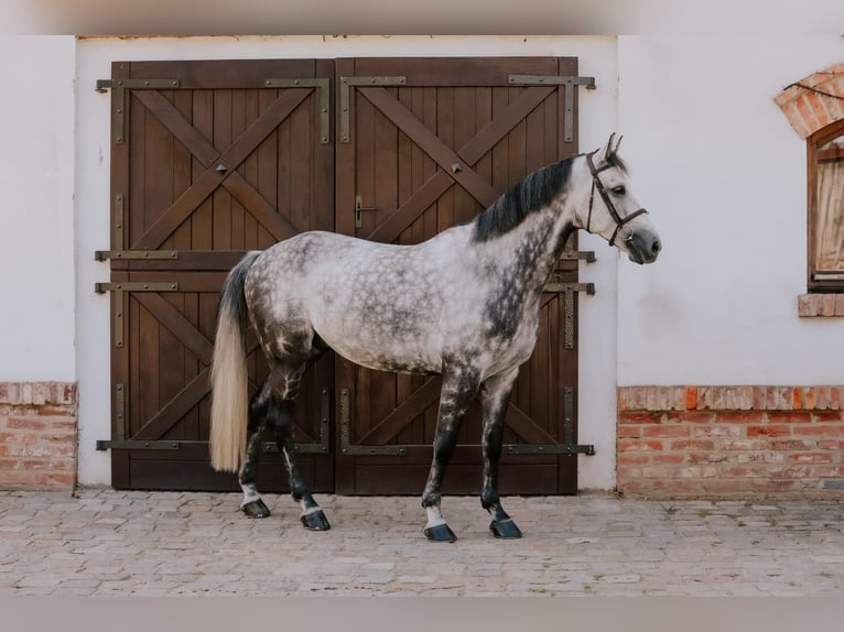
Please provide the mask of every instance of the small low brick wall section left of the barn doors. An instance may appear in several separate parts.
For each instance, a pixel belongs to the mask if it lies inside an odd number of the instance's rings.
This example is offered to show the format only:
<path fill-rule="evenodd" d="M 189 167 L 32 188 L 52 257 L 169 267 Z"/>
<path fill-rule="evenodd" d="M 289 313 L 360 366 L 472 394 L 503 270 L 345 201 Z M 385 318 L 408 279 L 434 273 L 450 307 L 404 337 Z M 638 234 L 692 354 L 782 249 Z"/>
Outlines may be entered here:
<path fill-rule="evenodd" d="M 72 489 L 76 384 L 0 383 L 0 489 Z"/>

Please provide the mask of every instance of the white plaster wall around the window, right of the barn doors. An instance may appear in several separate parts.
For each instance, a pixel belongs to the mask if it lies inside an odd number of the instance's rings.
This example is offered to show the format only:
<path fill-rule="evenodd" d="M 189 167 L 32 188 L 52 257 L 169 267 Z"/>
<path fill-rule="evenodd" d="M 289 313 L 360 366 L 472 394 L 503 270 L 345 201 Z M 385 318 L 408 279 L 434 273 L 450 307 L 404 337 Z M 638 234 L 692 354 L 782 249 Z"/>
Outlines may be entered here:
<path fill-rule="evenodd" d="M 659 261 L 619 262 L 618 383 L 840 384 L 844 319 L 798 318 L 805 143 L 773 97 L 840 35 L 619 37 L 619 123 Z"/>

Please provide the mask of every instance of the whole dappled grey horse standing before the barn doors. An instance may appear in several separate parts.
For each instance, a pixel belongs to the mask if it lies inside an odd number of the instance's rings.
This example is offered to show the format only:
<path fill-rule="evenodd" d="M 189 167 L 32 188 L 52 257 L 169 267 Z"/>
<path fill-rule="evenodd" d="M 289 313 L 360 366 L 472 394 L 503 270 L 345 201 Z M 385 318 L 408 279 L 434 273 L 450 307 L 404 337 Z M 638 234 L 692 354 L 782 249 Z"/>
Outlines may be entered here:
<path fill-rule="evenodd" d="M 501 506 L 498 460 L 510 390 L 537 341 L 542 288 L 578 228 L 600 235 L 636 263 L 653 262 L 661 249 L 629 189 L 614 135 L 600 150 L 531 173 L 474 221 L 416 246 L 303 232 L 248 253 L 231 270 L 212 367 L 210 451 L 215 469 L 239 471 L 247 515 L 270 513 L 255 486 L 260 436 L 269 425 L 302 523 L 329 529 L 299 468 L 292 418 L 302 374 L 333 349 L 370 369 L 442 375 L 434 457 L 422 493 L 429 540 L 455 540 L 440 511 L 440 488 L 461 422 L 479 392 L 480 501 L 496 536 L 521 536 Z M 249 323 L 270 368 L 251 400 L 244 349 Z"/>

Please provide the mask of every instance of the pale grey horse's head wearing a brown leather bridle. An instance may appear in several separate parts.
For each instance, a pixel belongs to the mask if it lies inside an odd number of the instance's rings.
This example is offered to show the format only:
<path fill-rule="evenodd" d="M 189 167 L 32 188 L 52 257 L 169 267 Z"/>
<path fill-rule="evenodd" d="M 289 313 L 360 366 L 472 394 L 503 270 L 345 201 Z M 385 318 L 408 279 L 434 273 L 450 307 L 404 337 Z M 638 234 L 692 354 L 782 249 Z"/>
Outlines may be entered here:
<path fill-rule="evenodd" d="M 577 199 L 585 211 L 576 214 L 575 226 L 599 235 L 635 263 L 653 263 L 662 242 L 648 211 L 636 200 L 627 167 L 618 157 L 621 137 L 614 141 L 612 134 L 605 146 L 584 156 Z"/>

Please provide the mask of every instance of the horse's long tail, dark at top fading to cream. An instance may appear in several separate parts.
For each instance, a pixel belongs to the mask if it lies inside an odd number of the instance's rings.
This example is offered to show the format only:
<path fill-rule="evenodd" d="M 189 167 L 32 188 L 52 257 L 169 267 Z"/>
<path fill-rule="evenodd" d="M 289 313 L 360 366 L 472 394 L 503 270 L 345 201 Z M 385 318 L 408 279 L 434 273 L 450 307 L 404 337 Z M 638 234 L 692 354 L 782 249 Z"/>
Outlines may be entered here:
<path fill-rule="evenodd" d="M 215 470 L 237 471 L 246 457 L 249 392 L 244 334 L 249 315 L 244 285 L 259 254 L 248 253 L 231 269 L 220 294 L 210 373 L 209 443 Z"/>

